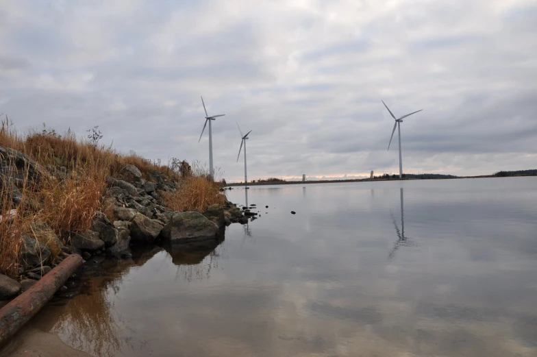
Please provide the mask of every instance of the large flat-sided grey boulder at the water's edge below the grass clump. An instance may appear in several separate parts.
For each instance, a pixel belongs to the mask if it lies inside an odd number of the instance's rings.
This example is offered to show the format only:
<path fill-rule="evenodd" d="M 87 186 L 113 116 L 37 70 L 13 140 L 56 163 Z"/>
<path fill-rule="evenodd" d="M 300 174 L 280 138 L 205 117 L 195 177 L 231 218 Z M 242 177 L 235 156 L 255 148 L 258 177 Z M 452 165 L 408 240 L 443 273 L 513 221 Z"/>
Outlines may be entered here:
<path fill-rule="evenodd" d="M 218 225 L 199 212 L 173 212 L 162 229 L 162 237 L 172 244 L 215 239 Z"/>

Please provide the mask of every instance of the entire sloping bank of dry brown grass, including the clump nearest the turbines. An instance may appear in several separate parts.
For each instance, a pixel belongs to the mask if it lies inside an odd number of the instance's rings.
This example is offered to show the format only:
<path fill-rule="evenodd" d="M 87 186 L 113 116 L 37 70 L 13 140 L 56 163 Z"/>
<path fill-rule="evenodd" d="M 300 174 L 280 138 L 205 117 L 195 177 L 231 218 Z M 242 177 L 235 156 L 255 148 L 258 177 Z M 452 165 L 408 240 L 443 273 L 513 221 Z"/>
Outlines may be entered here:
<path fill-rule="evenodd" d="M 116 207 L 106 191 L 117 180 L 129 180 L 129 165 L 139 170 L 138 180 L 155 182 L 155 197 L 162 197 L 159 203 L 173 211 L 203 212 L 225 203 L 219 183 L 202 169 L 184 160 L 161 164 L 135 153 L 118 153 L 99 144 L 102 136 L 96 129 L 88 138 L 77 138 L 71 131 L 58 134 L 47 128 L 21 133 L 7 117 L 1 121 L 1 274 L 20 278 L 24 237 L 47 247 L 53 261 L 62 254 L 62 245 L 95 224 L 96 212 L 114 221 Z M 162 181 L 173 182 L 174 188 L 158 186 Z"/>

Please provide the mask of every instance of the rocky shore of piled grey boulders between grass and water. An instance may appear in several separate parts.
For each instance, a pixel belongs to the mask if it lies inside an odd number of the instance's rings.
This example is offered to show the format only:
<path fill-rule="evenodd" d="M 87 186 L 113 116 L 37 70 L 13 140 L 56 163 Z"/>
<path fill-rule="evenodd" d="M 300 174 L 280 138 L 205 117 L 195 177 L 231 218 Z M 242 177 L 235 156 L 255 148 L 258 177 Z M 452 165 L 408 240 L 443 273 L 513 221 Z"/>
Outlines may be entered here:
<path fill-rule="evenodd" d="M 21 152 L 0 148 L 3 154 L 1 183 L 12 185 L 10 199 L 16 206 L 21 204 L 16 185 L 21 177 L 13 174 L 18 171 L 9 164 L 29 169 L 32 175 L 27 180 L 45 175 L 47 171 Z M 62 175 L 63 172 L 60 169 L 53 174 Z M 163 194 L 175 192 L 181 182 L 168 180 L 156 170 L 149 173 L 149 180 L 145 180 L 136 166 L 127 164 L 120 176 L 121 180 L 108 177 L 102 205 L 106 210 L 95 212 L 89 230 L 58 237 L 47 223 L 32 221 L 32 230 L 39 232 L 41 238 L 23 235 L 18 279 L 0 274 L 0 300 L 12 299 L 22 293 L 69 254 L 80 254 L 85 260 L 94 256 L 126 259 L 132 256 L 134 246 L 149 250 L 155 245 L 184 248 L 213 245 L 223 238 L 226 225 L 248 222 L 245 213 L 227 200 L 225 204 L 213 204 L 203 212 L 174 212 L 163 206 Z M 2 212 L 0 220 L 7 220 L 4 223 L 9 224 L 15 214 L 16 210 Z"/>

